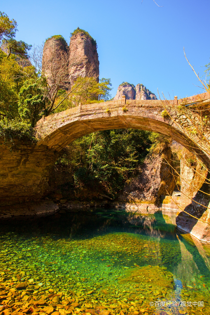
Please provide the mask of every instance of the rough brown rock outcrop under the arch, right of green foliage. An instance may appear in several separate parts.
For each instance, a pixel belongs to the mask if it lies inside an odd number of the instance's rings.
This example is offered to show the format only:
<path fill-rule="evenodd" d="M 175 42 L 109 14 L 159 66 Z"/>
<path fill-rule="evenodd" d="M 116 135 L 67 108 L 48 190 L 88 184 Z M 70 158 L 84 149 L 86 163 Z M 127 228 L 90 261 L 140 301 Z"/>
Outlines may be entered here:
<path fill-rule="evenodd" d="M 176 183 L 173 175 L 170 174 L 172 173 L 171 167 L 165 163 L 163 156 L 171 163 L 172 151 L 170 147 L 165 148 L 155 157 L 149 156 L 145 159 L 139 175 L 125 186 L 118 200 L 156 203 L 161 195 L 167 195 L 167 191 L 172 194 Z"/>

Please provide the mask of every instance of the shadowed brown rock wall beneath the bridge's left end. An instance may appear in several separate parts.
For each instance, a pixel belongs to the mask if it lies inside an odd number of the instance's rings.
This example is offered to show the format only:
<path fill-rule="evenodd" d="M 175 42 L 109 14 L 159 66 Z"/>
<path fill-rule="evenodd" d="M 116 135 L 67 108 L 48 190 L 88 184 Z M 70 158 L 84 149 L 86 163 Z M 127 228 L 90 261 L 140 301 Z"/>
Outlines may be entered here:
<path fill-rule="evenodd" d="M 0 207 L 38 201 L 50 191 L 57 151 L 18 140 L 12 147 L 1 142 L 0 148 Z"/>

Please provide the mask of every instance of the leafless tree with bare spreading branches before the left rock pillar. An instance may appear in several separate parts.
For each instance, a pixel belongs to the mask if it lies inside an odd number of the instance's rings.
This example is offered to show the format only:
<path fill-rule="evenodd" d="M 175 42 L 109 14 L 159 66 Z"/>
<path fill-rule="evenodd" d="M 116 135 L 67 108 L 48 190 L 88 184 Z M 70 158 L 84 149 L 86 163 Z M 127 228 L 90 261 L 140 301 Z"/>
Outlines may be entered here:
<path fill-rule="evenodd" d="M 76 63 L 74 60 L 69 60 L 66 50 L 59 49 L 56 45 L 51 46 L 50 49 L 44 45 L 35 47 L 31 61 L 37 73 L 41 74 L 45 89 L 44 100 L 48 100 L 48 102 L 45 101 L 45 116 L 55 112 L 65 100 L 70 98 L 71 94 L 82 93 L 89 84 L 86 78 L 90 73 L 72 86 L 69 68 L 75 66 Z"/>

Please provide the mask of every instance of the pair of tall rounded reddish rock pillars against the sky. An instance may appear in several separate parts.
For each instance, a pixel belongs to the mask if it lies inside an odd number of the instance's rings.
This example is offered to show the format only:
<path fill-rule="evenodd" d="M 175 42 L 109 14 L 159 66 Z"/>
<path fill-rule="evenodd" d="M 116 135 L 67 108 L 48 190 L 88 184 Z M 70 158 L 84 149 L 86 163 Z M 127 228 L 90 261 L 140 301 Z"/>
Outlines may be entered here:
<path fill-rule="evenodd" d="M 99 81 L 96 42 L 87 32 L 78 30 L 72 33 L 69 47 L 61 35 L 54 35 L 46 40 L 43 48 L 42 70 L 49 82 L 52 83 L 56 77 L 59 79 L 56 70 L 61 67 L 63 68 L 61 73 L 67 74 L 66 81 L 71 85 L 79 76 L 95 77 Z"/>

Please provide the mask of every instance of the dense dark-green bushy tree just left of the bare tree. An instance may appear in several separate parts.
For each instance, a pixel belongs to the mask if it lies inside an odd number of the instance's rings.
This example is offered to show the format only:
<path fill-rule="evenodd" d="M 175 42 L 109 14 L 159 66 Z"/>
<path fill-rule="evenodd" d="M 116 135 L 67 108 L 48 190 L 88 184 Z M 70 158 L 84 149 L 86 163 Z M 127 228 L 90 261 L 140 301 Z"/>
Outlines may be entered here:
<path fill-rule="evenodd" d="M 48 101 L 44 98 L 41 79 L 27 80 L 19 93 L 19 113 L 20 117 L 35 126 L 42 116 L 42 111 Z"/>

